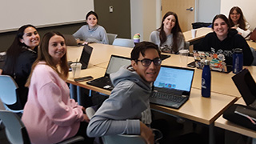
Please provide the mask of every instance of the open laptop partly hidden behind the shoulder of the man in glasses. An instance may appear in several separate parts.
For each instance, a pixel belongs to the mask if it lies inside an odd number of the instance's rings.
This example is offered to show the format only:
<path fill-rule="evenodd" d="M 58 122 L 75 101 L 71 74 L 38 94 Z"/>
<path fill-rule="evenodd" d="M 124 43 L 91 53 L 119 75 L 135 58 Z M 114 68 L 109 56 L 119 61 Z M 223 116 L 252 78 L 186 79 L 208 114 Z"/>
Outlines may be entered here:
<path fill-rule="evenodd" d="M 126 58 L 118 55 L 111 55 L 104 77 L 97 78 L 86 83 L 91 86 L 97 86 L 99 88 L 111 91 L 114 89 L 114 86 L 110 81 L 110 74 L 117 72 L 120 69 L 120 67 L 124 65 L 127 65 L 127 66 L 130 65 L 130 58 Z"/>

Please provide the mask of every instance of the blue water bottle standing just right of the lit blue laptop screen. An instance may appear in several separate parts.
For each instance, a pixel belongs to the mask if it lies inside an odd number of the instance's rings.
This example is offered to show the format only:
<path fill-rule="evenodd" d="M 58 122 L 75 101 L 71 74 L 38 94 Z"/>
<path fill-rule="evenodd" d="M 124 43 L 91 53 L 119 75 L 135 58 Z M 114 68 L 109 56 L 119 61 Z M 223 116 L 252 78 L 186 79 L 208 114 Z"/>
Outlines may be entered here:
<path fill-rule="evenodd" d="M 205 60 L 203 62 L 204 67 L 202 69 L 202 97 L 210 98 L 210 61 Z"/>

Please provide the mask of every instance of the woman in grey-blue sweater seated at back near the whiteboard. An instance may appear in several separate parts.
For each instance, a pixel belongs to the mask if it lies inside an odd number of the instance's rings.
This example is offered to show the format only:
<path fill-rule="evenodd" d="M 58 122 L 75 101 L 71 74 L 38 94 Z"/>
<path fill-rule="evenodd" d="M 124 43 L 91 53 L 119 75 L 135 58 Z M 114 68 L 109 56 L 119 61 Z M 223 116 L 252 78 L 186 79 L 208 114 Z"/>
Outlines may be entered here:
<path fill-rule="evenodd" d="M 86 14 L 86 25 L 76 31 L 73 36 L 74 38 L 79 38 L 86 43 L 109 44 L 106 30 L 104 27 L 98 25 L 98 15 L 94 11 L 90 11 Z"/>

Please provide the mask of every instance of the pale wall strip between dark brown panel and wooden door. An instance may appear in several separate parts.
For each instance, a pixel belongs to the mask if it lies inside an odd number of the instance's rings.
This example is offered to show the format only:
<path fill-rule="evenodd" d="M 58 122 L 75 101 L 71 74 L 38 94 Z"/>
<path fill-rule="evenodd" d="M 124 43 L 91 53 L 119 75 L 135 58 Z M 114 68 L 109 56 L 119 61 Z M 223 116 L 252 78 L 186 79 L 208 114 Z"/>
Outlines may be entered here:
<path fill-rule="evenodd" d="M 150 33 L 161 23 L 161 0 L 130 0 L 131 38 L 141 35 L 141 41 L 148 41 Z"/>

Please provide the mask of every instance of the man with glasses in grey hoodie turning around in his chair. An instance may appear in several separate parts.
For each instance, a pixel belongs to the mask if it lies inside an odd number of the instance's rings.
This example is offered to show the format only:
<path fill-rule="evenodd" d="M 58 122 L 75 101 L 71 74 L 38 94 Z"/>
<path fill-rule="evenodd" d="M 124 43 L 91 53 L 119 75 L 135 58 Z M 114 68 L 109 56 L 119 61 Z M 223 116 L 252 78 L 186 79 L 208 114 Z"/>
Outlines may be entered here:
<path fill-rule="evenodd" d="M 136 134 L 147 143 L 154 143 L 154 134 L 148 127 L 152 121 L 149 98 L 161 67 L 160 53 L 154 43 L 139 42 L 130 54 L 131 65 L 110 74 L 114 89 L 91 118 L 89 137 Z"/>

